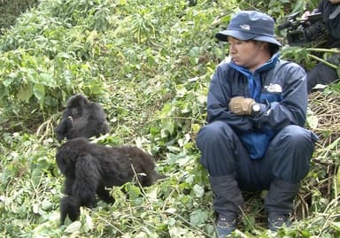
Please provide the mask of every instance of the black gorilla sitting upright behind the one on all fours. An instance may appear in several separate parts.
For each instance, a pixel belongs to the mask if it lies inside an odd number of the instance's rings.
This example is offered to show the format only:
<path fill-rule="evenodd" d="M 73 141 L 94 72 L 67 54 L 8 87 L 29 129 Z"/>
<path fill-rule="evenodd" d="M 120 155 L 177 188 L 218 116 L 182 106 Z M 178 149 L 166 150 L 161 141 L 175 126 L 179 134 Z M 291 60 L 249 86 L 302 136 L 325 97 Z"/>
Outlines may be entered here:
<path fill-rule="evenodd" d="M 85 96 L 75 95 L 67 101 L 63 117 L 55 131 L 60 142 L 65 137 L 69 140 L 106 134 L 109 132 L 109 126 L 101 105 L 89 101 Z"/>

